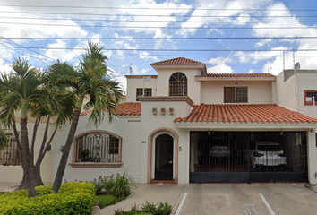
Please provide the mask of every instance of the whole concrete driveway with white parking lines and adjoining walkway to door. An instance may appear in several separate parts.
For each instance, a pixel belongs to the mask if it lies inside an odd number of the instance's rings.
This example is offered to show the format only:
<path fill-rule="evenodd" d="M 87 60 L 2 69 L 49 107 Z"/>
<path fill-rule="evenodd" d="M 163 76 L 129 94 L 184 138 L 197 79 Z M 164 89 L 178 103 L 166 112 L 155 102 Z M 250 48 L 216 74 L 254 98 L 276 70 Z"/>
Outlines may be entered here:
<path fill-rule="evenodd" d="M 168 202 L 176 215 L 317 214 L 317 193 L 302 184 L 137 185 L 126 200 L 100 214 L 128 210 L 146 200 Z"/>

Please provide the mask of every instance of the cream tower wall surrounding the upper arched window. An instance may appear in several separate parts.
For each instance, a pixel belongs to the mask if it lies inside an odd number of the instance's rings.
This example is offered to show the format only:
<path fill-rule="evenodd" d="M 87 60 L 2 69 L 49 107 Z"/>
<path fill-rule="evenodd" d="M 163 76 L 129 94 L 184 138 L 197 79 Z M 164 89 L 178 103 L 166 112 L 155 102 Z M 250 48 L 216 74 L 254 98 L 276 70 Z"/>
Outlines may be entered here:
<path fill-rule="evenodd" d="M 173 73 L 184 73 L 188 81 L 188 96 L 194 104 L 200 104 L 201 82 L 195 81 L 195 75 L 200 74 L 200 69 L 159 69 L 157 96 L 168 96 L 169 78 Z"/>

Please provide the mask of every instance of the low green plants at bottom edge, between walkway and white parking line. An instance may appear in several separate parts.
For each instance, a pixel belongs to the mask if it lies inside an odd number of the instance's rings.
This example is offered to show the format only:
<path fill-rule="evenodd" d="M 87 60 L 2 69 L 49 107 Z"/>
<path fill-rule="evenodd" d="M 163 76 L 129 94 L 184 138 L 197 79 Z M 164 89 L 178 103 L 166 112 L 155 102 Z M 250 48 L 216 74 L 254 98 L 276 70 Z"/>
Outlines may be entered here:
<path fill-rule="evenodd" d="M 157 205 L 159 206 L 157 207 Z M 146 201 L 142 204 L 141 210 L 138 209 L 138 206 L 134 204 L 131 206 L 130 211 L 124 211 L 123 209 L 118 209 L 115 211 L 115 215 L 168 215 L 172 211 L 172 206 L 167 202 L 148 202 Z"/>

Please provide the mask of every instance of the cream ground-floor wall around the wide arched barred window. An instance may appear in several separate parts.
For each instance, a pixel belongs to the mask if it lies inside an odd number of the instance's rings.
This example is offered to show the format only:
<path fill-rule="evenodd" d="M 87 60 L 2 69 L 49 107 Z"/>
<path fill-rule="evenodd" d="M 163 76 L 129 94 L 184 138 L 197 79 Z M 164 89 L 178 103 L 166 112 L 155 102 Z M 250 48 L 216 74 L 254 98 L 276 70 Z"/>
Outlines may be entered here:
<path fill-rule="evenodd" d="M 89 116 L 81 116 L 76 135 L 86 133 L 91 130 L 102 130 L 110 133 L 116 133 L 122 137 L 122 162 L 124 163 L 121 168 L 73 168 L 67 165 L 64 173 L 64 179 L 67 181 L 81 180 L 90 181 L 99 176 L 110 176 L 111 174 L 123 174 L 126 171 L 129 175 L 133 176 L 136 182 L 146 183 L 144 178 L 141 178 L 140 157 L 141 157 L 141 123 L 128 122 L 128 119 L 115 118 L 112 123 L 107 122 L 105 117 L 104 122 L 98 127 L 87 127 L 87 120 Z M 134 117 L 137 119 L 137 117 Z M 140 118 L 139 118 L 140 119 Z M 56 143 L 60 148 L 64 145 L 69 126 L 64 127 L 63 131 L 57 133 Z M 68 163 L 72 162 L 72 151 L 68 158 Z M 54 174 L 59 164 L 62 153 L 56 150 L 54 159 Z M 145 169 L 146 171 L 146 169 Z"/>

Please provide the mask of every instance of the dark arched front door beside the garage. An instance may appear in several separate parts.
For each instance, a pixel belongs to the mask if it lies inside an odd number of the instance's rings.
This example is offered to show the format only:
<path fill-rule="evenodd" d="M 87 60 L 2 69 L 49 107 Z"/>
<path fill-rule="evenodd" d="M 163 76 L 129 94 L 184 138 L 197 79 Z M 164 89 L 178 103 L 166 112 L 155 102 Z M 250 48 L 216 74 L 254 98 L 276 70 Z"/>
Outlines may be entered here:
<path fill-rule="evenodd" d="M 155 180 L 173 180 L 174 138 L 160 134 L 155 139 Z"/>

